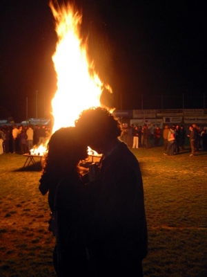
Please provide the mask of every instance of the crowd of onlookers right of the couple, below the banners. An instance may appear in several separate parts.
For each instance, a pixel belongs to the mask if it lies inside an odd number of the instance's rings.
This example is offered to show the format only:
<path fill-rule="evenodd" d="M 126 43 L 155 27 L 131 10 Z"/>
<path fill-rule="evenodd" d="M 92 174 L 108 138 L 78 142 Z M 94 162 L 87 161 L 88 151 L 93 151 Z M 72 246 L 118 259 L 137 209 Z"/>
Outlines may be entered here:
<path fill-rule="evenodd" d="M 164 145 L 165 155 L 179 154 L 185 150 L 186 138 L 189 138 L 192 150 L 190 157 L 199 150 L 207 151 L 207 127 L 199 127 L 193 124 L 186 131 L 184 125 L 164 125 L 164 129 L 159 126 L 137 126 L 123 125 L 121 141 L 128 145 L 128 148 L 152 148 Z"/>

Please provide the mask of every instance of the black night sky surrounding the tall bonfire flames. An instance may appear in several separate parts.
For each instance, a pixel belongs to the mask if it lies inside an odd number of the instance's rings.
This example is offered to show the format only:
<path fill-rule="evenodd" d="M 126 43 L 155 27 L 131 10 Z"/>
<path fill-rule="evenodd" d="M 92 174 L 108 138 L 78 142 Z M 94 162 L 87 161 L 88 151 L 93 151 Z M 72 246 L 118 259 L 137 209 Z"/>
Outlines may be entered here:
<path fill-rule="evenodd" d="M 112 87 L 117 109 L 161 109 L 161 95 L 164 109 L 181 108 L 183 93 L 184 107 L 204 107 L 202 2 L 75 1 L 83 12 L 81 33 L 89 35 L 90 59 Z M 51 59 L 57 37 L 48 1 L 1 1 L 0 28 L 0 117 L 26 120 L 28 99 L 28 118 L 35 118 L 36 97 L 38 117 L 48 117 L 57 82 Z"/>

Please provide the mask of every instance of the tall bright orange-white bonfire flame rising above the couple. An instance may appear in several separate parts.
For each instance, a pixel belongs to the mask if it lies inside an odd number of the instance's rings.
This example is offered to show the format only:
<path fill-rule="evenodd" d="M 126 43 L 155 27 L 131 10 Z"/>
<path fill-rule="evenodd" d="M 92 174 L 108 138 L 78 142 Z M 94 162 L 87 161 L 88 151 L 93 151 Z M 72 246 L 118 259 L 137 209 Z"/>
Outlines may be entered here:
<path fill-rule="evenodd" d="M 54 133 L 60 127 L 74 126 L 83 109 L 100 106 L 103 82 L 88 62 L 87 42 L 80 38 L 82 15 L 71 4 L 54 6 L 50 1 L 49 6 L 58 37 L 52 56 L 57 73 L 57 91 L 52 99 Z"/>

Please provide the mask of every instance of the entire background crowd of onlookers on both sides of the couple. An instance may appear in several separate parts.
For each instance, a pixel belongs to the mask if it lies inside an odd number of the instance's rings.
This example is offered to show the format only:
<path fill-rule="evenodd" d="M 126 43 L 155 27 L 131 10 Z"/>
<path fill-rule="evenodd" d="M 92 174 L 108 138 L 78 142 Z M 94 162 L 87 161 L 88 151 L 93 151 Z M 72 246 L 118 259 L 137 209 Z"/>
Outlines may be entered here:
<path fill-rule="evenodd" d="M 50 138 L 50 127 L 47 125 L 4 125 L 0 128 L 0 154 L 26 154 L 35 146 L 45 143 Z M 193 157 L 199 150 L 207 151 L 207 127 L 193 124 L 186 131 L 184 125 L 138 126 L 124 124 L 119 139 L 124 141 L 128 148 L 152 148 L 164 145 L 166 155 L 179 154 L 184 150 L 186 138 L 189 139 Z"/>

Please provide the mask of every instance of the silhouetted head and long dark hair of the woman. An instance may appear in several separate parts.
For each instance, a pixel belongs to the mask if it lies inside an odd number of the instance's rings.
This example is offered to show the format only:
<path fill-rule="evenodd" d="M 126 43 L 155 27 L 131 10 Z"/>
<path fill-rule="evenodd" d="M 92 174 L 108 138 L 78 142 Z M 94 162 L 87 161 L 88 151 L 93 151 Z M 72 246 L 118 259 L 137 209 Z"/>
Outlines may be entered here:
<path fill-rule="evenodd" d="M 60 179 L 79 175 L 79 161 L 87 157 L 87 146 L 82 141 L 75 127 L 62 127 L 52 134 L 40 179 L 39 190 L 43 195 Z"/>

